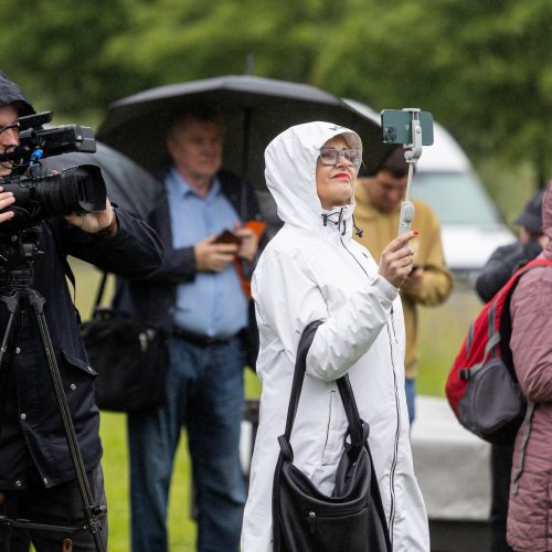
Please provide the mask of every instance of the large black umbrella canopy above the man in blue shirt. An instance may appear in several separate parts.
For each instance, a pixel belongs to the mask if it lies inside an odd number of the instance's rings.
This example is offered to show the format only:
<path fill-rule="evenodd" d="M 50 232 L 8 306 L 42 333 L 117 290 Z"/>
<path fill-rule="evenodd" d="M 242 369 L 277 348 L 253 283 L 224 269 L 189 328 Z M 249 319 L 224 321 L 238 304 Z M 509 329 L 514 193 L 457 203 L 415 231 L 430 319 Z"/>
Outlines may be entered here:
<path fill-rule="evenodd" d="M 225 126 L 224 168 L 265 189 L 264 150 L 286 128 L 312 120 L 336 123 L 362 138 L 373 169 L 392 149 L 378 123 L 314 86 L 250 75 L 221 76 L 151 88 L 109 105 L 98 138 L 152 173 L 169 164 L 166 135 L 176 116 L 213 106 Z"/>

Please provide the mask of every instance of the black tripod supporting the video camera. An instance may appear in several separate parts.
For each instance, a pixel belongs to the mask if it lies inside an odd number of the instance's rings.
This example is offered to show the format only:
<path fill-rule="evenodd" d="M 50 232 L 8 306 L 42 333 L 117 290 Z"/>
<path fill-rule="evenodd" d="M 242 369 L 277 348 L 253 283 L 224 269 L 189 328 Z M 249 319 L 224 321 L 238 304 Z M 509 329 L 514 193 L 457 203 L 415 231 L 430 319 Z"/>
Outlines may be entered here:
<path fill-rule="evenodd" d="M 85 530 L 92 534 L 96 550 L 98 552 L 105 552 L 104 542 L 100 538 L 102 526 L 99 518 L 106 516 L 107 509 L 105 506 L 94 502 L 91 486 L 86 477 L 86 468 L 71 418 L 67 399 L 63 390 L 63 382 L 55 359 L 50 331 L 47 329 L 46 318 L 44 316 L 44 304 L 46 301 L 36 290 L 31 288 L 34 274 L 34 258 L 36 255 L 41 254 L 36 245 L 38 230 L 31 229 L 23 231 L 22 234 L 14 234 L 14 236 L 12 236 L 12 242 L 13 243 L 9 246 L 9 254 L 0 254 L 0 264 L 4 263 L 8 266 L 8 270 L 6 270 L 4 274 L 0 273 L 0 302 L 6 305 L 9 312 L 8 322 L 0 344 L 0 433 L 3 423 L 2 406 L 6 405 L 8 383 L 10 380 L 8 371 L 12 369 L 6 361 L 12 360 L 13 351 L 11 350 L 11 346 L 15 342 L 19 325 L 21 323 L 23 315 L 29 312 L 32 315 L 30 318 L 35 320 L 39 329 L 42 349 L 50 371 L 55 400 L 63 422 L 67 447 L 83 501 L 85 522 L 78 527 L 62 527 L 0 517 L 0 526 L 25 530 L 62 531 L 66 533 L 75 533 Z M 13 258 L 13 255 L 15 255 L 15 258 Z M 20 318 L 19 321 L 18 317 Z"/>

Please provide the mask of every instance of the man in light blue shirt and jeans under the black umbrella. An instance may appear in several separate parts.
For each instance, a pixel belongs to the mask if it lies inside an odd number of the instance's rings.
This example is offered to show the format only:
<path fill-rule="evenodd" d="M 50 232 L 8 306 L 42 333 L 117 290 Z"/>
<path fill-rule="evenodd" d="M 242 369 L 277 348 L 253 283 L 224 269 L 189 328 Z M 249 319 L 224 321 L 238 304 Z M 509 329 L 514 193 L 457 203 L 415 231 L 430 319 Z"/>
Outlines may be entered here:
<path fill-rule="evenodd" d="M 116 301 L 170 331 L 166 404 L 129 415 L 134 552 L 162 552 L 173 457 L 185 427 L 192 461 L 198 550 L 237 551 L 245 488 L 240 466 L 244 335 L 251 301 L 236 258 L 254 263 L 258 238 L 240 212 L 242 182 L 221 170 L 223 127 L 212 113 L 180 117 L 172 159 L 150 224 L 166 247 L 147 280 L 126 283 Z M 259 219 L 247 187 L 245 220 Z M 225 230 L 237 240 L 221 243 Z"/>

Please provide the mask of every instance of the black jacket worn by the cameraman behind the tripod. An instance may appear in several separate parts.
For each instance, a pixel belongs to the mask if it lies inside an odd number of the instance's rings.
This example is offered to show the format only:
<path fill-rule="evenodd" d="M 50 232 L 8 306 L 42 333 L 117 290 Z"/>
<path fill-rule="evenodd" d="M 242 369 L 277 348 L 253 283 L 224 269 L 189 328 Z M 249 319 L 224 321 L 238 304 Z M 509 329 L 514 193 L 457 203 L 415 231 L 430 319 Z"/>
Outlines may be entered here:
<path fill-rule="evenodd" d="M 44 255 L 34 267 L 33 284 L 45 299 L 44 315 L 59 363 L 75 433 L 87 470 L 102 457 L 99 413 L 94 401 L 95 372 L 88 367 L 65 278 L 65 257 L 72 255 L 103 270 L 127 278 L 144 277 L 159 266 L 161 246 L 155 232 L 123 210 L 117 211 L 118 232 L 102 240 L 54 217 L 40 224 L 39 247 Z M 0 226 L 0 250 L 6 252 L 10 233 Z M 9 297 L 6 278 L 13 269 L 0 270 L 0 290 Z M 25 291 L 26 294 L 26 291 Z M 25 305 L 24 301 L 21 305 Z M 0 403 L 0 490 L 21 489 L 42 480 L 46 487 L 75 477 L 65 433 L 55 402 L 50 371 L 33 312 L 29 308 L 13 331 L 9 352 L 2 359 L 0 380 L 7 396 Z M 7 302 L 0 301 L 0 330 L 7 333 Z M 7 381 L 7 375 L 11 375 Z"/>

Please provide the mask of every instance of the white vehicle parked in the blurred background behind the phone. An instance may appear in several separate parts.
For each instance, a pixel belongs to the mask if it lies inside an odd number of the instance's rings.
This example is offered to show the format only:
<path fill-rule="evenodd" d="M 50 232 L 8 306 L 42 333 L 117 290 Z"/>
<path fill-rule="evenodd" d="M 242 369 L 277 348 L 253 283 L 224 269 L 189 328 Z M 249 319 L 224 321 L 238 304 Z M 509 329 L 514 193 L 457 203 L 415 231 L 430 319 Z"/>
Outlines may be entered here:
<path fill-rule="evenodd" d="M 367 105 L 344 102 L 380 121 Z M 439 217 L 446 262 L 457 278 L 471 280 L 497 247 L 516 240 L 464 150 L 437 123 L 434 145 L 423 148 L 417 162 L 411 194 Z"/>

